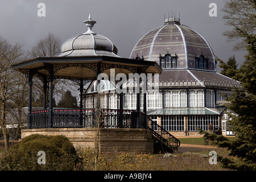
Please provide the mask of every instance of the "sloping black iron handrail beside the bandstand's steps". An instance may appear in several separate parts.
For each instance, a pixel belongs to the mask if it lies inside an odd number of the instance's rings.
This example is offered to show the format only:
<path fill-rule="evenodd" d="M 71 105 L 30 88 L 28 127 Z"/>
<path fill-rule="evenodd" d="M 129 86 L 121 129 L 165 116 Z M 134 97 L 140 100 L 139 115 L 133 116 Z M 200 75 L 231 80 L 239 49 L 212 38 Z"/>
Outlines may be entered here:
<path fill-rule="evenodd" d="M 157 122 L 147 117 L 147 129 L 152 131 L 153 136 L 158 139 L 160 142 L 177 150 L 181 142 L 171 135 L 168 131 L 163 129 L 162 126 L 159 126 Z"/>

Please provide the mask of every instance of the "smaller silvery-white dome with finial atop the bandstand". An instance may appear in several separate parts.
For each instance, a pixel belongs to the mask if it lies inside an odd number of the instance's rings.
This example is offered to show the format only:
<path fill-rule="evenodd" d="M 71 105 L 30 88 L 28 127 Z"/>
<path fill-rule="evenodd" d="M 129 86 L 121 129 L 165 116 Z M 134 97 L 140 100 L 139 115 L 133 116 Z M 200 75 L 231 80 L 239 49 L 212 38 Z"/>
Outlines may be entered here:
<path fill-rule="evenodd" d="M 85 20 L 87 32 L 66 40 L 61 46 L 59 56 L 117 56 L 117 47 L 105 36 L 97 35 L 91 28 L 96 23 L 94 20 Z"/>

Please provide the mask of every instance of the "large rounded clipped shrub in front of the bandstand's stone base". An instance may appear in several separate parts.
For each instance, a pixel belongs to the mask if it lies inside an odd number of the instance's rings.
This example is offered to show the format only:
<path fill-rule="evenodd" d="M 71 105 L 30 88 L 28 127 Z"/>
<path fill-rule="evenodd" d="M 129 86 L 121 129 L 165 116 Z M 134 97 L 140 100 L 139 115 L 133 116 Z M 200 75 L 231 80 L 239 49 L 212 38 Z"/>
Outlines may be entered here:
<path fill-rule="evenodd" d="M 45 152 L 45 164 L 38 164 L 39 151 Z M 77 151 L 66 137 L 34 134 L 23 138 L 0 156 L 0 170 L 70 171 L 77 162 Z"/>

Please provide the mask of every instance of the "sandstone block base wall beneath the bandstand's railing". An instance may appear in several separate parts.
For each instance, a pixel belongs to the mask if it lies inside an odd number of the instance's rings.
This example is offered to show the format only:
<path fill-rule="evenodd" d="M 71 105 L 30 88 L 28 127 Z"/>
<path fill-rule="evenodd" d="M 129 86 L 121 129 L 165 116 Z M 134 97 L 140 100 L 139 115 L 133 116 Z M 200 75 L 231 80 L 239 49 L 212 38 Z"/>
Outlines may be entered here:
<path fill-rule="evenodd" d="M 96 131 L 93 128 L 24 129 L 21 132 L 22 138 L 32 134 L 63 135 L 75 148 L 95 146 Z M 151 154 L 153 146 L 152 133 L 146 129 L 102 129 L 99 137 L 100 155 Z"/>

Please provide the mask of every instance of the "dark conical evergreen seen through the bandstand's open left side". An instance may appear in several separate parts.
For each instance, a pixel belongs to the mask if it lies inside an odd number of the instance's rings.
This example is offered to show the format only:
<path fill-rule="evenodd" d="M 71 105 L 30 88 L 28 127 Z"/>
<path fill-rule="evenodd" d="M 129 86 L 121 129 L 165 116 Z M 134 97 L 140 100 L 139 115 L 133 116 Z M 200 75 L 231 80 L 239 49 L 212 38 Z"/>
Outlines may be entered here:
<path fill-rule="evenodd" d="M 61 100 L 59 101 L 57 107 L 76 108 L 77 107 L 77 98 L 72 96 L 70 90 L 67 90 L 61 97 Z"/>

